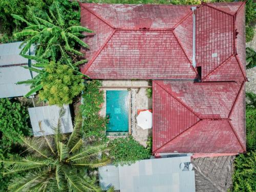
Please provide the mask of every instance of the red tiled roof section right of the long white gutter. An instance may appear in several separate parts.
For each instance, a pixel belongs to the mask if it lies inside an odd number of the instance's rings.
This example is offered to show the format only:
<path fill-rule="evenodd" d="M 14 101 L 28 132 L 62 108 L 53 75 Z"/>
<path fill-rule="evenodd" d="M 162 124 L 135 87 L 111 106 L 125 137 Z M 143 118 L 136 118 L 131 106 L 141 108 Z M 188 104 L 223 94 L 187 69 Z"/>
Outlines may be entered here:
<path fill-rule="evenodd" d="M 246 79 L 244 5 L 203 3 L 196 10 L 196 61 L 202 67 L 202 81 L 224 81 L 227 73 L 228 80 Z M 236 59 L 230 62 L 230 57 Z"/>

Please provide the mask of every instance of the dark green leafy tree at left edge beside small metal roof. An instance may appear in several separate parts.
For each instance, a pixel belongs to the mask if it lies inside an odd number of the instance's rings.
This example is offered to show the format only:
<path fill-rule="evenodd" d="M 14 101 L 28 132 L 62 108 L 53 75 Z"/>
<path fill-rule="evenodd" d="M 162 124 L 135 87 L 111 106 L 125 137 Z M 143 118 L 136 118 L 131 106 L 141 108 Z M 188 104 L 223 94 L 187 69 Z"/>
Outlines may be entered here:
<path fill-rule="evenodd" d="M 20 142 L 20 136 L 31 135 L 28 110 L 17 100 L 0 99 L 0 131 L 2 143 Z"/>

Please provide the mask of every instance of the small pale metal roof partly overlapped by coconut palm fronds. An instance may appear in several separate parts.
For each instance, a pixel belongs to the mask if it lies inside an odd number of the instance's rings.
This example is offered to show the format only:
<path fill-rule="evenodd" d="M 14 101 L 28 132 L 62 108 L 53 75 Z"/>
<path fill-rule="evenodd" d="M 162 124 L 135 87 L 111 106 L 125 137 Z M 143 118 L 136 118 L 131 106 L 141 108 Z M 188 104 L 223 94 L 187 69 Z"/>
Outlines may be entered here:
<path fill-rule="evenodd" d="M 69 105 L 64 105 L 66 110 L 65 115 L 61 118 L 61 129 L 62 133 L 70 133 L 73 131 L 73 125 L 71 120 L 71 114 Z M 36 108 L 29 108 L 29 117 L 33 129 L 34 136 L 42 136 L 39 129 L 38 122 L 41 121 L 42 130 L 45 135 L 53 135 L 53 126 L 56 126 L 59 118 L 59 107 L 57 105 L 52 106 L 37 106 Z"/>

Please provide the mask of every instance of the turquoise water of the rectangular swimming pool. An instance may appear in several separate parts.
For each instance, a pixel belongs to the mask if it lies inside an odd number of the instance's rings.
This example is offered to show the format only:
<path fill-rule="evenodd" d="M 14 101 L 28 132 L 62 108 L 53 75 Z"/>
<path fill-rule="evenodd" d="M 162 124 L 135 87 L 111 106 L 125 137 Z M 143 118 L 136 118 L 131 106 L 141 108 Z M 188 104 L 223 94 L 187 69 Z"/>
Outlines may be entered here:
<path fill-rule="evenodd" d="M 107 132 L 128 132 L 128 109 L 128 91 L 106 91 L 106 116 L 110 118 Z"/>

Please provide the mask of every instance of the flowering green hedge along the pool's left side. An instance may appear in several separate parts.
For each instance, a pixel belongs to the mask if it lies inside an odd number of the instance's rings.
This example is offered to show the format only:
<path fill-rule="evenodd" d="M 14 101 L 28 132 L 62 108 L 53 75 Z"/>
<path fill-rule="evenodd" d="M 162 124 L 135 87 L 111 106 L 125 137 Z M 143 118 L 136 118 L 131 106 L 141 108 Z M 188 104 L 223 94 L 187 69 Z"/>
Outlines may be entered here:
<path fill-rule="evenodd" d="M 94 141 L 105 141 L 105 130 L 108 118 L 101 117 L 99 111 L 104 102 L 104 92 L 99 90 L 101 81 L 87 81 L 82 95 L 83 102 L 80 105 L 81 114 L 84 118 L 82 135 Z"/>

